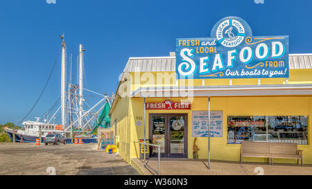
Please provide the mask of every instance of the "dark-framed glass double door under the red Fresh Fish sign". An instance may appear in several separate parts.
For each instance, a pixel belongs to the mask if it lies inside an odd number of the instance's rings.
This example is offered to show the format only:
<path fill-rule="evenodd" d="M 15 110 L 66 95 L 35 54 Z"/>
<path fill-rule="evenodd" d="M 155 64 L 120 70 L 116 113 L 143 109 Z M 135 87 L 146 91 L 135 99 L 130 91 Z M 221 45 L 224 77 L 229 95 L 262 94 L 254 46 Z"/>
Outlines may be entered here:
<path fill-rule="evenodd" d="M 162 157 L 187 157 L 187 114 L 150 114 L 149 136 Z M 154 147 L 151 156 L 158 156 Z"/>

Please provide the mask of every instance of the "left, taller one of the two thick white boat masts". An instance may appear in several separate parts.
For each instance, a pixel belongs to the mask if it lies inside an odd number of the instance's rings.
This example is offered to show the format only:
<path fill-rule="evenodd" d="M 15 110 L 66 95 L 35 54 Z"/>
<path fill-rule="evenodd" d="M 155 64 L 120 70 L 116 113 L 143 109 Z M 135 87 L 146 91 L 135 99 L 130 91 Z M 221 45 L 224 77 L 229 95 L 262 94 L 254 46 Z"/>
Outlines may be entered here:
<path fill-rule="evenodd" d="M 62 106 L 62 129 L 66 128 L 66 44 L 64 33 L 62 38 L 62 76 L 61 76 L 61 106 Z"/>

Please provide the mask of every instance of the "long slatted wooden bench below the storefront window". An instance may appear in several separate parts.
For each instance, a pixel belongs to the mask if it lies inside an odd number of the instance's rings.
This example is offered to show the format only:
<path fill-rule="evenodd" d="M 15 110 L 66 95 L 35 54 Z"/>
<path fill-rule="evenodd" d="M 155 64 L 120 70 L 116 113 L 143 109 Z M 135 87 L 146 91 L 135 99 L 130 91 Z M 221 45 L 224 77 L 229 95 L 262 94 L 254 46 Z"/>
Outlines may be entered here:
<path fill-rule="evenodd" d="M 302 150 L 297 150 L 295 143 L 256 143 L 242 142 L 241 143 L 241 163 L 243 157 L 261 157 L 268 158 L 268 162 L 272 165 L 273 158 L 281 159 L 299 159 L 302 165 Z"/>

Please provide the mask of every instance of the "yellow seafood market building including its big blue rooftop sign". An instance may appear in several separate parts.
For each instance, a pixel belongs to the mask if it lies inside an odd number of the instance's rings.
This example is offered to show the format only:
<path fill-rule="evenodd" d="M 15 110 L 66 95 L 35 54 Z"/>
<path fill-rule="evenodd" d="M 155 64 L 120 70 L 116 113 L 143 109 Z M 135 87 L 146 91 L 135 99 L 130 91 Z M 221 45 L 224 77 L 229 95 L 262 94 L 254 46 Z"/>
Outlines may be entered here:
<path fill-rule="evenodd" d="M 288 36 L 254 37 L 243 19 L 226 17 L 211 37 L 177 39 L 169 56 L 130 57 L 110 116 L 117 150 L 130 164 L 140 158 L 135 141 L 144 131 L 166 158 L 193 159 L 196 138 L 198 159 L 207 159 L 210 134 L 211 159 L 240 161 L 243 141 L 296 143 L 303 163 L 312 164 L 312 54 L 289 54 Z"/>

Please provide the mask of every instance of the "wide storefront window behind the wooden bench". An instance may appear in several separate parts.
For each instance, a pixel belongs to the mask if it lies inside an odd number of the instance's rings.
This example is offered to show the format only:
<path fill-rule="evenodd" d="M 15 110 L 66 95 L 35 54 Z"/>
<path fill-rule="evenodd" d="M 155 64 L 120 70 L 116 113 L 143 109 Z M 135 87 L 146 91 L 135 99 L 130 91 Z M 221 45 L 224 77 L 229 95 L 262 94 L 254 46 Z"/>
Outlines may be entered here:
<path fill-rule="evenodd" d="M 308 116 L 227 116 L 227 143 L 308 144 Z"/>

